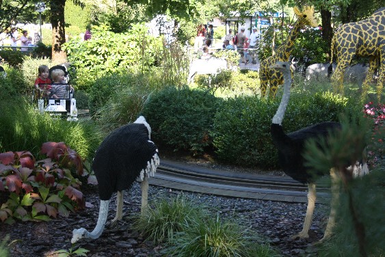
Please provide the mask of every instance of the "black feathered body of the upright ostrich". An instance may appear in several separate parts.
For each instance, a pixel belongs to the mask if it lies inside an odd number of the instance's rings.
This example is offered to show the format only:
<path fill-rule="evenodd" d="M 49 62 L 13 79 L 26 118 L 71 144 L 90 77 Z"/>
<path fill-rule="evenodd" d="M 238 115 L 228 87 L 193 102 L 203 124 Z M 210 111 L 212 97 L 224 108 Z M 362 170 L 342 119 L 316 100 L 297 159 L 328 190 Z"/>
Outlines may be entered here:
<path fill-rule="evenodd" d="M 278 159 L 280 167 L 287 176 L 303 183 L 313 183 L 317 176 L 328 174 L 315 174 L 304 166 L 304 143 L 308 139 L 316 139 L 319 137 L 327 137 L 330 131 L 341 129 L 338 122 L 322 122 L 307 126 L 304 129 L 285 134 L 282 126 L 279 124 L 271 124 L 271 137 L 274 145 L 278 149 Z"/>

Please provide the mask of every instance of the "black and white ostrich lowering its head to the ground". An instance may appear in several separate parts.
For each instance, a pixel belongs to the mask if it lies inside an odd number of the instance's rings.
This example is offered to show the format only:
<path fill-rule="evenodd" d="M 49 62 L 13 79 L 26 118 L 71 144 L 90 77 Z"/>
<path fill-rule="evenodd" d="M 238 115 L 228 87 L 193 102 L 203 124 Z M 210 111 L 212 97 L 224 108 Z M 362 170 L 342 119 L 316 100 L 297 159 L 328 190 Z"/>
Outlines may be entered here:
<path fill-rule="evenodd" d="M 159 165 L 157 146 L 150 141 L 150 134 L 150 125 L 140 116 L 134 123 L 111 132 L 101 143 L 92 163 L 101 198 L 98 221 L 92 232 L 85 228 L 73 230 L 71 243 L 82 238 L 97 239 L 101 236 L 114 192 L 117 192 L 117 196 L 113 221 L 122 219 L 123 191 L 130 189 L 137 178 L 142 180 L 143 212 L 148 199 L 148 177 L 154 176 Z"/>

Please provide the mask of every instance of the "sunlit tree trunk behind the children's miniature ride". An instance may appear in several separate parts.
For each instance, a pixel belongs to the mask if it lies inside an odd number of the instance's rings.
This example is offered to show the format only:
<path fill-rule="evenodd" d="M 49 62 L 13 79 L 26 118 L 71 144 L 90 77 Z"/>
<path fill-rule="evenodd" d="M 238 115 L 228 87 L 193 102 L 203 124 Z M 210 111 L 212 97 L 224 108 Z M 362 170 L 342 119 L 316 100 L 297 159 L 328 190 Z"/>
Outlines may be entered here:
<path fill-rule="evenodd" d="M 64 6 L 66 0 L 51 0 L 51 25 L 52 25 L 52 61 L 66 62 L 66 53 L 62 51 L 62 44 L 66 42 L 64 29 Z"/>

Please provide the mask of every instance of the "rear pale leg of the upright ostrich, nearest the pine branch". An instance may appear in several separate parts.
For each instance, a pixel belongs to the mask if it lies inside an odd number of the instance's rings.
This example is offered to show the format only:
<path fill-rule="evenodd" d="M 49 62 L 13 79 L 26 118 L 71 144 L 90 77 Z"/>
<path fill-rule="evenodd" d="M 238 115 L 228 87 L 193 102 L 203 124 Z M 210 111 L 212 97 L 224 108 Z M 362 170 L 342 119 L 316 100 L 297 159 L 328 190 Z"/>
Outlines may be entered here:
<path fill-rule="evenodd" d="M 317 243 L 323 243 L 330 238 L 332 235 L 332 230 L 336 220 L 336 206 L 339 202 L 339 187 L 338 187 L 338 178 L 334 168 L 330 170 L 330 177 L 332 179 L 332 200 L 330 202 L 330 215 L 328 219 L 328 224 L 326 225 L 325 234 L 323 234 L 323 238 L 319 240 Z"/>

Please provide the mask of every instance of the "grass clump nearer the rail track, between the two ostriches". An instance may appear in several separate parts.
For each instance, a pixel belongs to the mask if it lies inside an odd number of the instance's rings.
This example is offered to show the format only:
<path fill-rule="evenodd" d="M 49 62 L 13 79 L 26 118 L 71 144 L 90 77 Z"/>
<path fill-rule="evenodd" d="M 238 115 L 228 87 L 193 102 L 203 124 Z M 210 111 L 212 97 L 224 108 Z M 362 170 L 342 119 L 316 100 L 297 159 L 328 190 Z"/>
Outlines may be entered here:
<path fill-rule="evenodd" d="M 187 200 L 183 195 L 162 199 L 149 204 L 143 215 L 137 217 L 134 230 L 144 234 L 146 241 L 160 243 L 171 239 L 174 233 L 182 231 L 196 219 L 204 219 L 204 208 Z"/>

